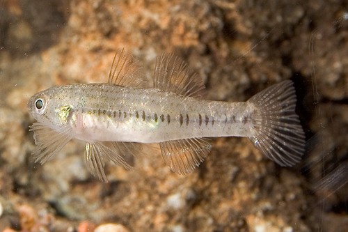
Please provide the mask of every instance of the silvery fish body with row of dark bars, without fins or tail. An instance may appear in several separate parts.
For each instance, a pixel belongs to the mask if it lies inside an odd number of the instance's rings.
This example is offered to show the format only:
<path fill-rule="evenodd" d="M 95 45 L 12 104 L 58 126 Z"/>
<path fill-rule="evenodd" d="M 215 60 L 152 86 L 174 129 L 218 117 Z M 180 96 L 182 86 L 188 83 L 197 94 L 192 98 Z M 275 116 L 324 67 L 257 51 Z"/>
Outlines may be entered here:
<path fill-rule="evenodd" d="M 74 138 L 93 143 L 160 143 L 194 137 L 251 137 L 254 106 L 201 100 L 157 88 L 116 84 L 56 86 L 33 96 L 55 102 L 47 110 L 52 130 L 71 127 Z M 64 112 L 65 111 L 65 112 Z"/>

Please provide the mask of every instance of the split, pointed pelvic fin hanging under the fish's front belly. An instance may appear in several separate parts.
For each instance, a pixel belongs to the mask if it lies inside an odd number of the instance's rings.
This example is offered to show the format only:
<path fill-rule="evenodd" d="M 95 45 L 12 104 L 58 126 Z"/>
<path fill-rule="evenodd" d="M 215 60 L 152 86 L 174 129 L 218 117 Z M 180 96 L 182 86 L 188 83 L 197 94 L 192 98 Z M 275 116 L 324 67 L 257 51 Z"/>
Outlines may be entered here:
<path fill-rule="evenodd" d="M 104 171 L 106 159 L 127 170 L 132 169 L 120 155 L 100 142 L 86 144 L 85 157 L 88 170 L 105 183 L 108 182 Z"/>

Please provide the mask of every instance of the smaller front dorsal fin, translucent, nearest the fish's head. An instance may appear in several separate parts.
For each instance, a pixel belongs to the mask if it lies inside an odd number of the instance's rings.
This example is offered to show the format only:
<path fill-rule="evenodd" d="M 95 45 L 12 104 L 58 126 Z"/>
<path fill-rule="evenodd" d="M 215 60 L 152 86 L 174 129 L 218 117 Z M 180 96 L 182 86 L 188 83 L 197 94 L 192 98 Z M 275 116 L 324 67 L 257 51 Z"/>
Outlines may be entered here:
<path fill-rule="evenodd" d="M 125 49 L 118 49 L 113 57 L 108 83 L 144 88 L 143 68 Z"/>

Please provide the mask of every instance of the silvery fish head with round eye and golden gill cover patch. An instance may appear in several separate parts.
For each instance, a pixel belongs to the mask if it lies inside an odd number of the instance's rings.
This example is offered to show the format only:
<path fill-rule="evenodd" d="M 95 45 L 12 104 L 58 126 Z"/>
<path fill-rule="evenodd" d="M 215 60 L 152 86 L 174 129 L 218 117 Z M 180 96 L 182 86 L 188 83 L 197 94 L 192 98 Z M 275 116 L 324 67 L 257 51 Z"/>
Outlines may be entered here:
<path fill-rule="evenodd" d="M 56 86 L 35 93 L 26 104 L 29 114 L 52 130 L 68 123 L 73 108 L 68 94 L 69 89 L 63 87 Z"/>

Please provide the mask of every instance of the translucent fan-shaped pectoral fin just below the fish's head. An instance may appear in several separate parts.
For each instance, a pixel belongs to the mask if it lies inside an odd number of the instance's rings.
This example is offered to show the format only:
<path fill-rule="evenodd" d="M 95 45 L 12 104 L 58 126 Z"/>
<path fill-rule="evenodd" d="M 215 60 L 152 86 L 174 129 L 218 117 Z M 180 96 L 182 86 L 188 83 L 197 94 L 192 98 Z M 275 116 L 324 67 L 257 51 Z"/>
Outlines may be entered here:
<path fill-rule="evenodd" d="M 34 132 L 34 141 L 37 145 L 31 154 L 35 162 L 40 162 L 40 164 L 44 164 L 56 155 L 73 137 L 68 126 L 60 132 L 56 132 L 46 125 L 36 122 L 29 128 L 29 131 Z"/>

